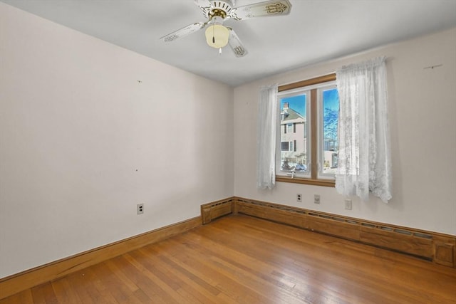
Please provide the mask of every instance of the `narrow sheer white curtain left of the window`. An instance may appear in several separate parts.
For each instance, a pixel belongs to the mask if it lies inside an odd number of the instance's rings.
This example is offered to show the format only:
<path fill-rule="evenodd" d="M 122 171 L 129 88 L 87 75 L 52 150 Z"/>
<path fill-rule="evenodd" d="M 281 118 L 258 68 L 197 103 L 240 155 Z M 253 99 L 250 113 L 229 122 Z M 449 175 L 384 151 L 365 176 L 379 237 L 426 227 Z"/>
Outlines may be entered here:
<path fill-rule="evenodd" d="M 257 121 L 257 187 L 272 189 L 276 184 L 276 130 L 279 116 L 277 85 L 260 89 Z"/>

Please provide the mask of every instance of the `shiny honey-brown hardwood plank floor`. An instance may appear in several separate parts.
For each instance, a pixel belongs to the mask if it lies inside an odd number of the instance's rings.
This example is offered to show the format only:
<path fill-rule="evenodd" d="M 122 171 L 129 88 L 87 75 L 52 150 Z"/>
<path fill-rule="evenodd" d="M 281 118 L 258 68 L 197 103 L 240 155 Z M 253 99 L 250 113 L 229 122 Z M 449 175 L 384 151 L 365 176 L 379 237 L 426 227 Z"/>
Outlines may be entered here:
<path fill-rule="evenodd" d="M 456 303 L 456 269 L 233 215 L 5 303 Z"/>

